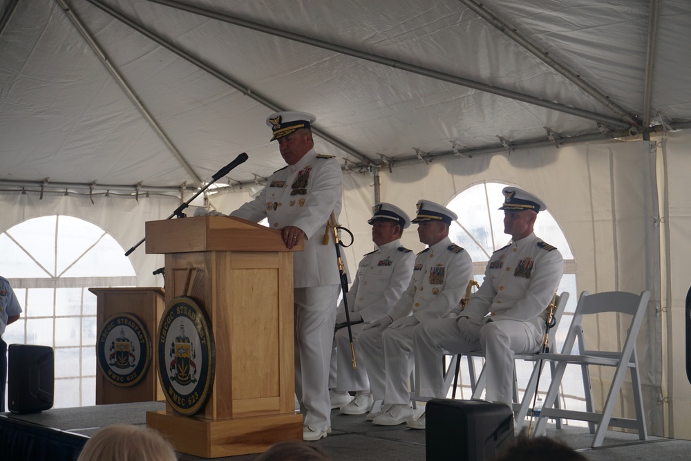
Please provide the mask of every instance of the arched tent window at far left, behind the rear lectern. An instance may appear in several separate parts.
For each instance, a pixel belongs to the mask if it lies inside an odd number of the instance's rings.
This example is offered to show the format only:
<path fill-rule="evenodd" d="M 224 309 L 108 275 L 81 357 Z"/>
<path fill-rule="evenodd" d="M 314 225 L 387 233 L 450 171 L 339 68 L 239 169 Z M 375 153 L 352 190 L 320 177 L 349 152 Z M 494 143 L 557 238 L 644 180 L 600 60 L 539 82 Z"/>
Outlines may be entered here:
<path fill-rule="evenodd" d="M 23 310 L 8 344 L 55 349 L 55 408 L 95 404 L 96 297 L 89 287 L 136 285 L 124 250 L 72 216 L 32 218 L 0 234 L 0 274 Z"/>

